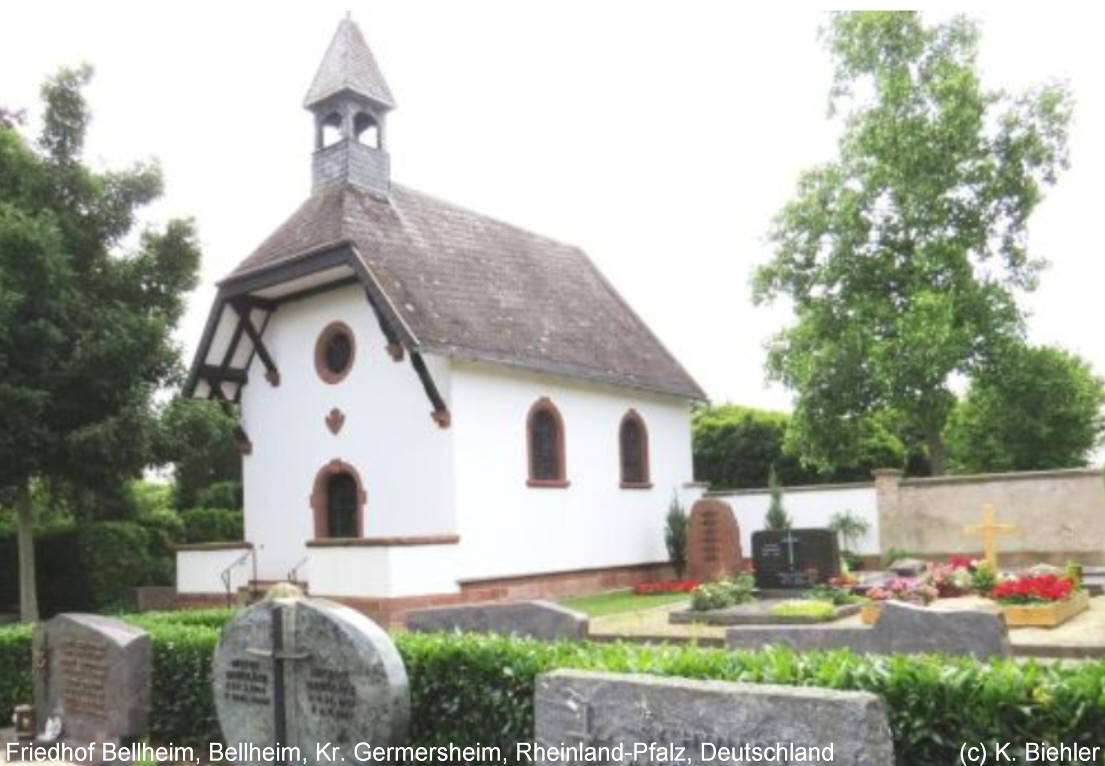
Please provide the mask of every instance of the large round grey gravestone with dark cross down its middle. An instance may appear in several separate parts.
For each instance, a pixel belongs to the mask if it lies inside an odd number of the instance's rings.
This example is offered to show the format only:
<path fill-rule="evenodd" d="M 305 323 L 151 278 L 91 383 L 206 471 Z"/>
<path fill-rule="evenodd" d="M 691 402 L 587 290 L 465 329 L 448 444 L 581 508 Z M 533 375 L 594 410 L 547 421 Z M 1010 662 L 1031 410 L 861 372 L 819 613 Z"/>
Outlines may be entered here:
<path fill-rule="evenodd" d="M 398 650 L 339 604 L 269 598 L 242 610 L 222 630 L 212 685 L 223 739 L 245 753 L 232 758 L 239 764 L 273 763 L 243 749 L 250 745 L 298 747 L 298 757 L 275 760 L 316 764 L 319 744 L 351 754 L 357 742 L 407 736 L 410 694 Z"/>

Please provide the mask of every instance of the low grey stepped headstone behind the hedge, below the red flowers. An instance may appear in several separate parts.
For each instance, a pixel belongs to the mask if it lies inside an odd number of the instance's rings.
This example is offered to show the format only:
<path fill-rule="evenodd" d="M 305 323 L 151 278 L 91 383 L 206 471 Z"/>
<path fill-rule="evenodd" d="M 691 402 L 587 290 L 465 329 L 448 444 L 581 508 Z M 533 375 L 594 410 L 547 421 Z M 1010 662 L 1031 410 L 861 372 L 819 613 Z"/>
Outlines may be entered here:
<path fill-rule="evenodd" d="M 799 651 L 851 649 L 872 654 L 970 654 L 1009 657 L 1006 618 L 990 611 L 937 611 L 887 601 L 873 628 L 740 627 L 726 631 L 730 649 L 781 643 Z"/>

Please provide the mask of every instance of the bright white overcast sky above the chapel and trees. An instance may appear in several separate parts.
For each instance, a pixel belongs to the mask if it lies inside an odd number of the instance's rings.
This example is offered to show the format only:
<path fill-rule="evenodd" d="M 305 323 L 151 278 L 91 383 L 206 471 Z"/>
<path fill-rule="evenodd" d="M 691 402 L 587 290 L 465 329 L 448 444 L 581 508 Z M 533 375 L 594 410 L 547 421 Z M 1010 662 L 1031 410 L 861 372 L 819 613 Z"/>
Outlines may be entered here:
<path fill-rule="evenodd" d="M 749 6 L 10 2 L 0 104 L 25 108 L 36 132 L 43 80 L 95 67 L 86 159 L 158 158 L 166 193 L 144 221 L 198 222 L 201 284 L 177 334 L 190 359 L 214 282 L 309 193 L 302 102 L 349 11 L 398 103 L 396 180 L 581 245 L 712 400 L 788 409 L 790 395 L 765 380 L 764 344 L 790 314 L 753 306 L 749 277 L 771 256 L 771 217 L 798 175 L 835 153 L 817 35 L 827 17 Z M 1105 375 L 1105 45 L 1091 7 L 1042 8 L 965 10 L 981 25 L 987 85 L 1061 80 L 1074 94 L 1072 167 L 1030 223 L 1031 250 L 1051 267 L 1022 305 L 1032 342 Z"/>

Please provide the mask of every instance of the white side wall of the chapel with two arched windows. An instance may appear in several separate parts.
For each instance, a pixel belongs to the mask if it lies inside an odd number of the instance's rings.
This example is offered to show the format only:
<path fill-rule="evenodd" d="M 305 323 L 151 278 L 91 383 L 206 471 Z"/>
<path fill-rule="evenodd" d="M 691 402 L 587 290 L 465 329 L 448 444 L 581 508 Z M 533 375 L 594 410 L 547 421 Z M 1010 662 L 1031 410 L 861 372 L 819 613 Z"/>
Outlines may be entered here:
<path fill-rule="evenodd" d="M 664 516 L 693 471 L 686 399 L 456 359 L 451 392 L 462 580 L 667 560 Z M 566 489 L 526 485 L 526 416 L 541 397 L 564 418 Z M 619 486 L 630 408 L 648 428 L 651 490 Z"/>

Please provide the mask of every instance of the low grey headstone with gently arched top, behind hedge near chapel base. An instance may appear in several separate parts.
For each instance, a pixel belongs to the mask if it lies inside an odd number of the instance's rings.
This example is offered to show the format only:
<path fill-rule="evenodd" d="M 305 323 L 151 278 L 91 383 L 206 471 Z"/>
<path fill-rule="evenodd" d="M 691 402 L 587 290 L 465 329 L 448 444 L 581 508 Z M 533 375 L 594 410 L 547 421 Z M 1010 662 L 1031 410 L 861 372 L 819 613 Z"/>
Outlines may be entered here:
<path fill-rule="evenodd" d="M 538 639 L 587 638 L 586 615 L 550 601 L 490 601 L 407 612 L 407 629 L 418 632 L 460 630 Z"/>

